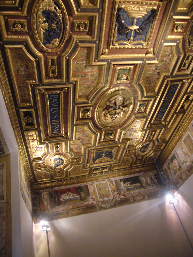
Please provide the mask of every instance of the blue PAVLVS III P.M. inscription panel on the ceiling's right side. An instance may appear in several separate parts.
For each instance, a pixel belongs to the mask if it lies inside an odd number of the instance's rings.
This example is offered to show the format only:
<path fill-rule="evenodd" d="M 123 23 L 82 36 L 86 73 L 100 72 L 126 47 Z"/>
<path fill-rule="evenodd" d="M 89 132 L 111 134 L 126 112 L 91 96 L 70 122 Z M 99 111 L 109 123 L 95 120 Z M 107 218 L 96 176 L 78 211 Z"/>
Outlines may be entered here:
<path fill-rule="evenodd" d="M 168 107 L 176 93 L 176 90 L 178 88 L 179 84 L 172 84 L 168 90 L 168 93 L 165 96 L 165 99 L 163 101 L 163 104 L 155 118 L 155 121 L 161 121 L 164 114 L 166 113 L 166 111 L 168 110 Z"/>

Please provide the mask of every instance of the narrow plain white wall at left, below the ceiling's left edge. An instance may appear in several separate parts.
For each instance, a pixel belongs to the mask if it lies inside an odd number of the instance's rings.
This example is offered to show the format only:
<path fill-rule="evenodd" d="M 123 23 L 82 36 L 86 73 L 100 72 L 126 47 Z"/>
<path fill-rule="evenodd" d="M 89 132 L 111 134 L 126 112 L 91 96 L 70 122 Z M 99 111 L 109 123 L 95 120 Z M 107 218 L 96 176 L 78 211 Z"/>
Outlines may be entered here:
<path fill-rule="evenodd" d="M 10 152 L 12 257 L 35 257 L 33 222 L 20 194 L 18 145 L 0 90 L 0 127 Z"/>

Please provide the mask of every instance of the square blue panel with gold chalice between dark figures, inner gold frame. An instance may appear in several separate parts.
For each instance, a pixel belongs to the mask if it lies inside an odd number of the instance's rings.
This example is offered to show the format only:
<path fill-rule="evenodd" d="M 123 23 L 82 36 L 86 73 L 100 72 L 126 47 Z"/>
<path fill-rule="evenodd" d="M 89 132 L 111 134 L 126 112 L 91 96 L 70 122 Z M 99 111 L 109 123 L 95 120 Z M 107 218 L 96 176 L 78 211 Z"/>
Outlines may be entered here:
<path fill-rule="evenodd" d="M 112 47 L 144 47 L 148 46 L 156 16 L 159 10 L 157 3 L 124 3 L 117 5 L 113 23 Z"/>

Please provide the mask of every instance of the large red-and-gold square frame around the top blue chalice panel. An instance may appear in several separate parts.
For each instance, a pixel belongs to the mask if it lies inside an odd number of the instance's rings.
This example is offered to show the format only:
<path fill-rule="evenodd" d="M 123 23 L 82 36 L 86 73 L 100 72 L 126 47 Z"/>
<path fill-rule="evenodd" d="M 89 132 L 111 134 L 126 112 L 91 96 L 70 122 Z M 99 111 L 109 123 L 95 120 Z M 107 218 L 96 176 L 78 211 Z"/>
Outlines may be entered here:
<path fill-rule="evenodd" d="M 110 5 L 109 5 L 109 3 L 110 3 Z M 155 1 L 152 1 L 152 2 L 146 2 L 146 1 L 135 1 L 135 2 L 134 1 L 127 1 L 127 2 L 124 2 L 124 1 L 116 0 L 113 3 L 114 3 L 114 5 L 112 6 L 111 1 L 105 1 L 104 2 L 104 9 L 103 9 L 103 15 L 102 15 L 103 16 L 103 20 L 102 20 L 102 25 L 101 25 L 102 30 L 101 30 L 101 35 L 100 35 L 100 44 L 99 44 L 98 58 L 99 59 L 106 59 L 106 58 L 113 58 L 114 59 L 114 58 L 128 58 L 128 57 L 130 57 L 130 58 L 132 58 L 132 57 L 133 58 L 135 58 L 135 57 L 137 57 L 137 58 L 138 57 L 142 57 L 142 58 L 143 57 L 145 57 L 145 58 L 155 57 L 155 55 L 157 54 L 160 42 L 161 42 L 160 39 L 161 39 L 161 37 L 163 35 L 164 29 L 165 29 L 165 26 L 166 26 L 166 22 L 168 20 L 168 13 L 171 10 L 172 1 L 167 1 L 167 2 L 161 3 L 161 2 L 155 2 Z M 125 45 L 125 44 L 128 44 L 128 42 L 133 40 L 133 35 L 132 34 L 133 34 L 133 32 L 135 30 L 137 31 L 140 26 L 138 26 L 136 24 L 132 24 L 132 25 L 131 24 L 129 24 L 129 25 L 126 24 L 126 22 L 124 20 L 125 17 L 123 18 L 123 14 L 120 13 L 120 11 L 118 9 L 123 8 L 124 10 L 127 10 L 128 8 L 130 8 L 131 10 L 129 11 L 130 12 L 129 13 L 129 15 L 130 15 L 129 17 L 131 17 L 133 15 L 132 18 L 130 18 L 130 19 L 132 20 L 134 18 L 134 21 L 136 23 L 136 19 L 138 19 L 138 16 L 136 14 L 137 11 L 134 11 L 133 13 L 135 13 L 135 14 L 133 14 L 132 10 L 134 10 L 135 8 L 137 8 L 137 10 L 138 9 L 140 10 L 140 8 L 141 8 L 141 9 L 143 9 L 143 15 L 145 15 L 145 13 L 144 13 L 145 4 L 147 4 L 148 8 L 149 8 L 149 6 L 151 6 L 151 10 L 156 9 L 157 5 L 159 6 L 159 8 L 161 8 L 161 10 L 162 10 L 162 8 L 164 9 L 164 12 L 162 12 L 162 11 L 160 12 L 160 13 L 162 13 L 162 15 L 161 15 L 162 16 L 162 22 L 160 23 L 160 17 L 158 19 L 159 20 L 160 28 L 159 28 L 159 33 L 156 34 L 156 37 L 154 38 L 155 39 L 154 46 L 153 46 L 153 48 L 151 48 L 153 50 L 149 50 L 148 49 L 144 53 L 141 53 L 140 51 L 138 51 L 137 54 L 136 53 L 132 53 L 133 51 L 132 52 L 131 51 L 127 51 L 128 53 L 126 53 L 125 51 L 122 51 L 122 49 L 124 49 L 125 47 L 129 47 L 131 49 L 138 48 L 138 47 L 139 48 L 146 48 L 146 43 L 140 41 L 142 43 L 142 45 L 140 45 L 140 46 L 136 46 L 134 43 L 133 43 L 134 45 L 130 45 L 130 46 L 126 46 Z M 153 5 L 155 5 L 155 6 L 153 6 Z M 107 22 L 107 19 L 109 19 L 108 16 L 107 16 L 109 8 L 113 8 L 114 15 L 113 15 L 113 17 L 111 17 L 110 22 Z M 141 13 L 142 13 L 142 11 L 141 11 Z M 150 20 L 151 20 L 150 17 L 154 17 L 153 18 L 153 19 L 155 19 L 155 21 L 153 21 L 153 26 L 154 26 L 155 23 L 156 23 L 156 20 L 158 18 L 157 14 L 155 16 L 154 13 L 152 13 L 152 12 L 150 13 L 150 11 L 149 11 L 148 12 L 149 17 L 147 18 L 147 16 L 146 16 L 146 20 L 147 20 L 146 24 L 152 23 L 152 21 L 150 22 Z M 141 19 L 141 17 L 143 15 L 141 14 L 140 19 Z M 120 22 L 119 22 L 119 19 L 120 19 Z M 131 31 L 131 38 L 132 38 L 132 40 L 130 40 L 130 41 L 128 39 L 128 42 L 125 42 L 124 45 L 118 46 L 115 43 L 114 47 L 119 49 L 119 54 L 117 54 L 117 50 L 116 49 L 114 50 L 114 52 L 109 51 L 109 49 L 111 50 L 111 48 L 113 47 L 113 45 L 111 45 L 112 42 L 110 43 L 110 48 L 108 48 L 107 45 L 104 46 L 104 39 L 105 39 L 105 36 L 106 36 L 106 33 L 107 33 L 107 27 L 109 26 L 109 24 L 111 24 L 111 27 L 113 29 L 113 24 L 115 24 L 115 21 L 116 21 L 116 28 L 115 29 L 117 29 L 118 27 L 119 27 L 118 29 L 120 29 L 120 26 L 122 26 L 122 31 L 120 32 L 121 33 L 120 35 L 124 35 L 124 31 L 125 31 L 125 34 L 128 33 L 129 31 Z M 121 25 L 121 21 L 123 23 L 122 25 Z M 128 19 L 127 19 L 127 21 L 128 21 Z M 141 21 L 141 24 L 143 24 L 143 22 L 144 21 Z M 120 25 L 118 25 L 119 23 L 120 23 Z M 125 29 L 124 29 L 124 26 L 125 26 Z M 140 30 L 141 30 L 141 28 L 142 27 L 140 27 Z M 152 30 L 152 29 L 150 28 L 149 30 Z M 109 40 L 112 41 L 112 38 L 116 37 L 115 34 L 116 34 L 115 31 L 112 32 L 111 33 L 111 39 L 109 39 Z M 138 34 L 142 34 L 142 33 L 138 32 Z M 148 36 L 150 36 L 150 38 L 152 37 L 152 33 L 150 33 L 150 31 L 147 34 L 148 34 Z M 148 47 L 148 48 L 150 48 L 150 47 Z"/>

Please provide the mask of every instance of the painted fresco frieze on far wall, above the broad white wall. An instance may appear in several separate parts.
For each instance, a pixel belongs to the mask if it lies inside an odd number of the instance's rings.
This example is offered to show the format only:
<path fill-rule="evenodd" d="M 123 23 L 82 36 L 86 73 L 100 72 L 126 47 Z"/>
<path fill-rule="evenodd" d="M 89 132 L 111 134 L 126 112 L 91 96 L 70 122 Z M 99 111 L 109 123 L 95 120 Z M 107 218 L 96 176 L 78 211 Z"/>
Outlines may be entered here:
<path fill-rule="evenodd" d="M 68 185 L 34 191 L 32 197 L 35 221 L 43 214 L 47 218 L 70 217 L 100 209 L 116 207 L 116 204 L 133 203 L 148 198 L 148 192 L 157 194 L 160 181 L 156 171 L 138 173 L 79 185 Z M 79 210 L 77 212 L 76 210 Z"/>

